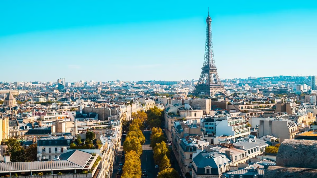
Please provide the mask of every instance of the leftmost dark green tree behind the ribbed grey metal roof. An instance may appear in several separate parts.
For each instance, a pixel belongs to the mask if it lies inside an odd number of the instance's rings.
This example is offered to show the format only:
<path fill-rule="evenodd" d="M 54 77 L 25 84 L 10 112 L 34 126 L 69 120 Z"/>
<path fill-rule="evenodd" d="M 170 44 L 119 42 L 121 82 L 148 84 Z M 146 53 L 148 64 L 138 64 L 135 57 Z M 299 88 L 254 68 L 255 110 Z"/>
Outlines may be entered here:
<path fill-rule="evenodd" d="M 21 147 L 21 143 L 16 139 L 8 140 L 8 148 L 6 150 L 7 153 L 10 154 L 11 162 L 24 162 L 25 160 L 25 150 Z"/>

